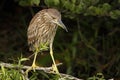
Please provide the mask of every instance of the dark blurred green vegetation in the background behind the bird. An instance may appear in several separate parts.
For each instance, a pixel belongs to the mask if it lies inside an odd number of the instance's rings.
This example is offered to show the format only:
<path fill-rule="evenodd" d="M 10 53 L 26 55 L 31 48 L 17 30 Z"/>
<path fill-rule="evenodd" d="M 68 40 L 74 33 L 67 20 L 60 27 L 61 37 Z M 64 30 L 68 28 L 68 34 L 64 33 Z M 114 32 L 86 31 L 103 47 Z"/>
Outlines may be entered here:
<path fill-rule="evenodd" d="M 27 27 L 45 8 L 57 8 L 69 31 L 58 30 L 54 40 L 56 62 L 63 63 L 60 72 L 83 79 L 97 73 L 120 79 L 120 0 L 1 0 L 0 61 L 16 62 L 21 54 L 32 54 Z M 44 53 L 37 64 L 50 66 L 49 52 Z"/>

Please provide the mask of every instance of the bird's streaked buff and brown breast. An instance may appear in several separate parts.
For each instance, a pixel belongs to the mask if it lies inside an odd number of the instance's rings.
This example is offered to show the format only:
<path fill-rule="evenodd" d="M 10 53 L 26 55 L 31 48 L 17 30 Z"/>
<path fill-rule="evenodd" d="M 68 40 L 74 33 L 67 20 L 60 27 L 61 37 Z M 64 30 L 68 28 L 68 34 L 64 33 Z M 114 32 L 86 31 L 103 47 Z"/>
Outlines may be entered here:
<path fill-rule="evenodd" d="M 36 45 L 37 46 L 39 46 L 40 44 L 46 45 L 46 43 L 49 45 L 50 43 L 52 43 L 56 34 L 57 25 L 50 22 L 45 22 L 44 24 L 38 27 L 39 27 L 37 34 L 38 42 L 36 43 Z"/>

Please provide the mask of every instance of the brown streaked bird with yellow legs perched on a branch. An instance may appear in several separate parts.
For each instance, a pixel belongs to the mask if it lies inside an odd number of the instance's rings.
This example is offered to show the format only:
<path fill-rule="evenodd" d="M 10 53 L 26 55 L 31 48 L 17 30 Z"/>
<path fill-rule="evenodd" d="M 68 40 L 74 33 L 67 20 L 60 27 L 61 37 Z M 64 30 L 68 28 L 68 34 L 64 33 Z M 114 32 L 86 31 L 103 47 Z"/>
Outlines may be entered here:
<path fill-rule="evenodd" d="M 27 36 L 29 50 L 34 52 L 34 59 L 31 68 L 26 70 L 26 72 L 31 69 L 35 70 L 37 67 L 35 64 L 37 54 L 49 48 L 53 61 L 53 72 L 60 75 L 53 56 L 53 41 L 58 27 L 68 32 L 61 20 L 61 13 L 57 9 L 43 9 L 33 16 L 27 30 Z"/>

